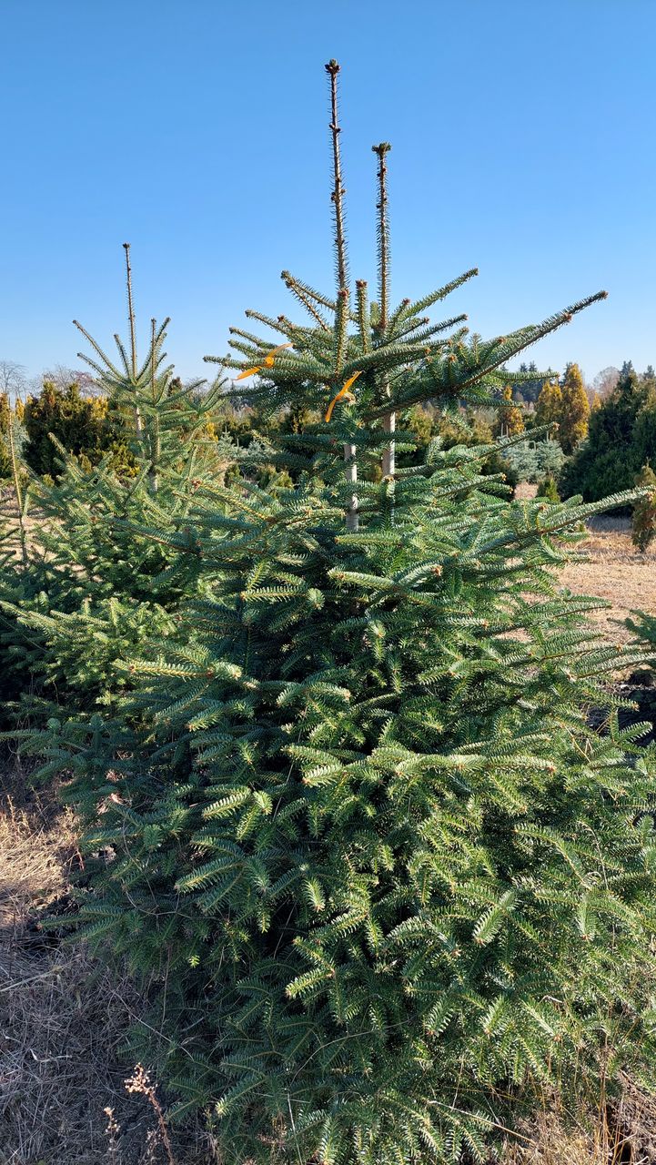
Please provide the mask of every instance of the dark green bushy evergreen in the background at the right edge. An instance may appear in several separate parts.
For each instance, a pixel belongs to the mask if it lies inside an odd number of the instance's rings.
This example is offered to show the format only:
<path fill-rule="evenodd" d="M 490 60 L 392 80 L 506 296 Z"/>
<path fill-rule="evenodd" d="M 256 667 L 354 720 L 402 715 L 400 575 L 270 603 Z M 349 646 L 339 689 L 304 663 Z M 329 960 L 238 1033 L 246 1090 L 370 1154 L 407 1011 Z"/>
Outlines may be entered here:
<path fill-rule="evenodd" d="M 560 493 L 598 501 L 630 489 L 647 461 L 656 461 L 656 389 L 626 363 L 616 387 L 592 410 L 587 439 L 560 475 Z"/>

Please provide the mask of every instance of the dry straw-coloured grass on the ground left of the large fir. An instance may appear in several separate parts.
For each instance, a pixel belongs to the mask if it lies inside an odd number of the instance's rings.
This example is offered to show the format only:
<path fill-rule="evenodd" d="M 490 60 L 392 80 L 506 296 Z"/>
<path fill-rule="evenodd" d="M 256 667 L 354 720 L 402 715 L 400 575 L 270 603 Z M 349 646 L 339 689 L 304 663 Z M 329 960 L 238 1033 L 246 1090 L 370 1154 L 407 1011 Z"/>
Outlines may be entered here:
<path fill-rule="evenodd" d="M 126 1088 L 129 979 L 40 930 L 77 862 L 70 813 L 0 776 L 0 1165 L 209 1163 L 199 1130 L 167 1148 L 150 1096 Z"/>

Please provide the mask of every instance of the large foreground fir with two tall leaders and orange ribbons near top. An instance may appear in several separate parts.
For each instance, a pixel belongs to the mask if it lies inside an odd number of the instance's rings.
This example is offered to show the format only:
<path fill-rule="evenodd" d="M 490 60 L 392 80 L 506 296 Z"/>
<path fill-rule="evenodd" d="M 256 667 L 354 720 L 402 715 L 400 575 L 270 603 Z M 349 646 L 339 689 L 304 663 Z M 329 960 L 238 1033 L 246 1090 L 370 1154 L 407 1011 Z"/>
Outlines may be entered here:
<path fill-rule="evenodd" d="M 135 1050 L 226 1162 L 482 1160 L 599 1055 L 648 1073 L 654 757 L 611 708 L 590 727 L 616 652 L 558 587 L 601 507 L 508 501 L 489 446 L 395 452 L 409 408 L 498 391 L 599 296 L 489 341 L 424 317 L 463 277 L 392 306 L 381 144 L 378 296 L 353 297 L 327 70 L 336 291 L 285 273 L 309 322 L 252 311 L 289 346 L 235 329 L 227 359 L 325 419 L 285 438 L 294 488 L 199 487 L 195 641 L 132 665 L 133 726 L 31 747 L 86 816 L 82 934 L 148 983 Z"/>

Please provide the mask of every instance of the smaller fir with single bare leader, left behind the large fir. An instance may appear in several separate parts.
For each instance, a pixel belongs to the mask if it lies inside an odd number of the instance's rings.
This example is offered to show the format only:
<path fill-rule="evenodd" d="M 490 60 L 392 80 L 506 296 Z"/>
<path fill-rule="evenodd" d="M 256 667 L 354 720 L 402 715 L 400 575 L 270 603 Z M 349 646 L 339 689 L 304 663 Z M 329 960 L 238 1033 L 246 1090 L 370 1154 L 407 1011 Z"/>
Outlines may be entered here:
<path fill-rule="evenodd" d="M 220 387 L 202 396 L 202 382 L 175 380 L 163 352 L 168 320 L 151 322 L 146 359 L 137 360 L 127 245 L 126 263 L 129 347 L 115 337 L 119 363 L 77 324 L 94 351 L 93 359 L 80 356 L 98 375 L 97 415 L 113 415 L 111 432 L 124 456 L 118 461 L 110 443 L 98 466 L 85 466 L 52 435 L 56 480 L 33 473 L 21 482 L 20 468 L 17 520 L 13 500 L 7 503 L 6 545 L 14 552 L 0 572 L 0 691 L 16 714 L 29 711 L 38 722 L 111 706 L 126 682 L 115 661 L 139 654 L 153 636 L 176 634 L 175 612 L 183 594 L 193 593 L 192 571 L 151 535 L 179 529 L 193 545 L 179 523 L 200 482 L 220 479 L 226 465 L 225 443 L 206 436 Z M 36 520 L 26 536 L 28 509 Z"/>

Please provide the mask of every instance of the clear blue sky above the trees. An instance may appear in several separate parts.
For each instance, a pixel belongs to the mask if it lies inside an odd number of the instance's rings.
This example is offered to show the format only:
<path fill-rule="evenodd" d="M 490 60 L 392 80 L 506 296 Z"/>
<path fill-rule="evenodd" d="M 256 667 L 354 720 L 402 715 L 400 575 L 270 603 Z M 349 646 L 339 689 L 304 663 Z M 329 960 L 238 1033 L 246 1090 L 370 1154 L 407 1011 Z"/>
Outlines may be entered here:
<path fill-rule="evenodd" d="M 393 143 L 393 292 L 468 267 L 453 313 L 498 334 L 599 288 L 530 351 L 588 379 L 656 365 L 651 0 L 0 0 L 0 358 L 79 366 L 78 317 L 172 317 L 205 374 L 245 308 L 332 285 L 327 89 L 343 65 L 354 277 L 375 277 L 371 146 Z"/>

